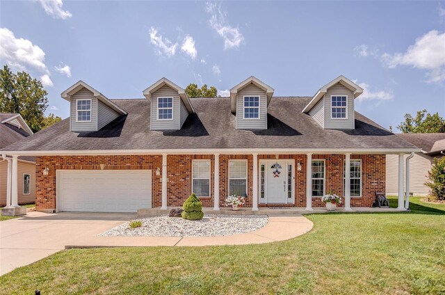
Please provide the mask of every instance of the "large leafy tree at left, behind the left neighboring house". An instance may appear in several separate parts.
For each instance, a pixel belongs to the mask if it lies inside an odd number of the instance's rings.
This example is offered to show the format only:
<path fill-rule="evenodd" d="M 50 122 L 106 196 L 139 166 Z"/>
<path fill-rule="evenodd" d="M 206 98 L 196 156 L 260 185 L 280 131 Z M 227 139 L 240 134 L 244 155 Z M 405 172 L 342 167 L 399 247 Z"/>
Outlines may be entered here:
<path fill-rule="evenodd" d="M 11 72 L 8 65 L 0 70 L 0 112 L 19 113 L 33 132 L 61 120 L 54 114 L 45 118 L 48 107 L 47 91 L 42 82 L 27 72 Z"/>

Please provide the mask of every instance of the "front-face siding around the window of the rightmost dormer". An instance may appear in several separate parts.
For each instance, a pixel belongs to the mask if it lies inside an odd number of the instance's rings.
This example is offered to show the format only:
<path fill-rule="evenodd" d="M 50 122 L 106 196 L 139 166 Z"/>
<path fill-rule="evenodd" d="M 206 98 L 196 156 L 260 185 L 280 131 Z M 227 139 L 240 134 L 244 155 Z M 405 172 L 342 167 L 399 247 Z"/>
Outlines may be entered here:
<path fill-rule="evenodd" d="M 332 96 L 346 96 L 346 118 L 332 118 Z M 353 92 L 337 83 L 331 88 L 327 89 L 327 93 L 323 97 L 324 101 L 324 127 L 325 129 L 354 129 L 355 115 L 354 115 L 354 97 Z"/>

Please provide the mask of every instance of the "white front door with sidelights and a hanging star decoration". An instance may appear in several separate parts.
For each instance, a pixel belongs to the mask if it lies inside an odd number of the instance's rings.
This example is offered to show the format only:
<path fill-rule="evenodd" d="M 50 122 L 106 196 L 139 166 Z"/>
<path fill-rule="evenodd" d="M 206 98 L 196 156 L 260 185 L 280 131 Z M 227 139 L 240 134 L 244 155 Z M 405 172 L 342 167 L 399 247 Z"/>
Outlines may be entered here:
<path fill-rule="evenodd" d="M 264 161 L 260 172 L 260 203 L 293 202 L 293 161 Z"/>

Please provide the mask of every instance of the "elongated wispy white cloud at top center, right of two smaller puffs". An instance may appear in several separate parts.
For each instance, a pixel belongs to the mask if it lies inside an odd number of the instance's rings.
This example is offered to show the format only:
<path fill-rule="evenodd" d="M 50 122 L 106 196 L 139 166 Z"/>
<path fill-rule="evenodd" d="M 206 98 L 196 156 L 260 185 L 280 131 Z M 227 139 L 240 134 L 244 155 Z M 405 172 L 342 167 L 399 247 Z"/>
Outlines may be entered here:
<path fill-rule="evenodd" d="M 227 24 L 227 13 L 221 10 L 221 5 L 207 2 L 206 11 L 211 15 L 211 27 L 224 39 L 224 49 L 239 47 L 244 36 L 238 28 Z"/>

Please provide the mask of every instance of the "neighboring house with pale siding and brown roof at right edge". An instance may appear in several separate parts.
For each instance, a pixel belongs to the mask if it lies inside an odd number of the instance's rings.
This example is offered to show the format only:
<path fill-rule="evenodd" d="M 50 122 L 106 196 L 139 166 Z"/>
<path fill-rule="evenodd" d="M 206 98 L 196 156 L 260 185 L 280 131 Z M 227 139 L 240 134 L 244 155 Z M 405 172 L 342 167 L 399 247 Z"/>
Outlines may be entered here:
<path fill-rule="evenodd" d="M 443 157 L 445 153 L 445 133 L 432 134 L 396 134 L 405 141 L 412 143 L 421 152 L 414 154 L 410 160 L 410 193 L 413 196 L 428 196 L 430 188 L 425 185 L 428 171 L 435 157 Z M 406 159 L 407 155 L 405 155 Z M 404 177 L 405 181 L 405 177 Z M 387 155 L 387 195 L 397 195 L 398 189 L 398 157 Z"/>

